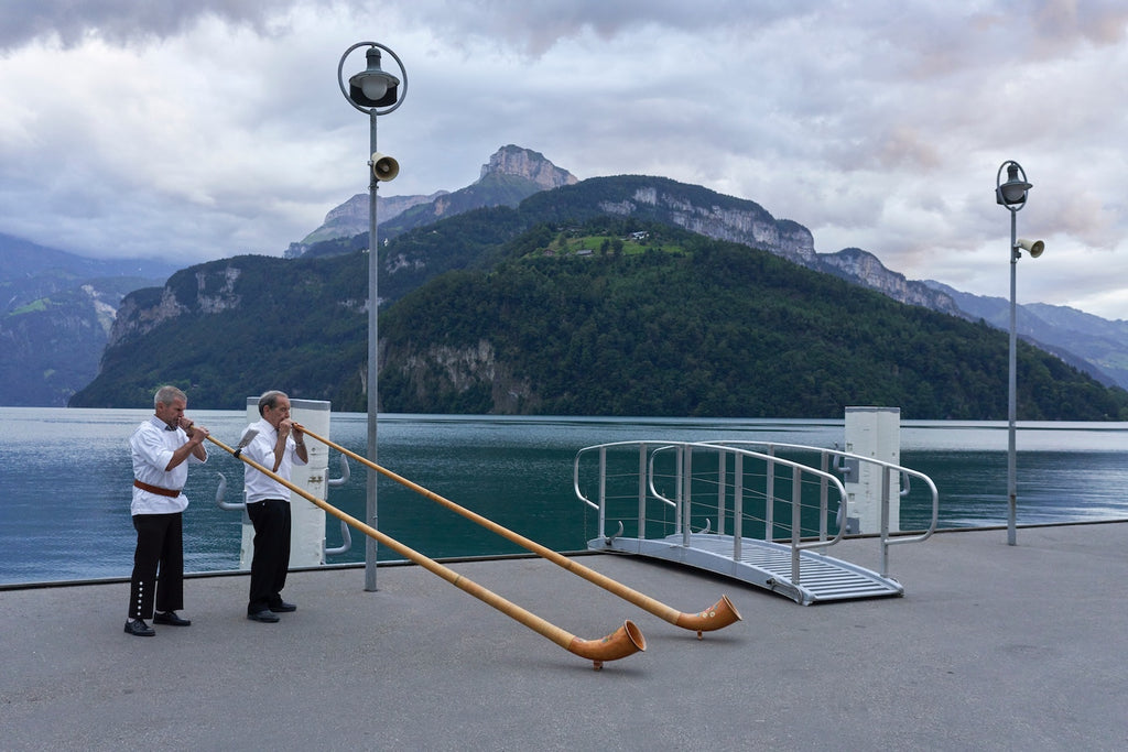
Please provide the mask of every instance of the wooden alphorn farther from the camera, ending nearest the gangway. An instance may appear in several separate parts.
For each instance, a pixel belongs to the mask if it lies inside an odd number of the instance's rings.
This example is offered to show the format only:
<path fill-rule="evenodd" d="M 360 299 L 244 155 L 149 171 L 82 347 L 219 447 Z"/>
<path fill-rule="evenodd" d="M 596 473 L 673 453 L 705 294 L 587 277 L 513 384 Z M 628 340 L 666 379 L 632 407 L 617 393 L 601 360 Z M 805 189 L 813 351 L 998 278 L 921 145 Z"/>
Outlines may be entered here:
<path fill-rule="evenodd" d="M 649 595 L 644 595 L 636 590 L 632 590 L 626 585 L 616 582 L 615 580 L 611 580 L 606 575 L 599 574 L 594 569 L 589 569 L 588 567 L 570 559 L 569 557 L 557 554 L 550 548 L 541 546 L 536 541 L 529 540 L 525 536 L 515 533 L 512 530 L 509 530 L 508 528 L 503 528 L 493 520 L 484 517 L 481 514 L 477 514 L 476 512 L 472 512 L 464 506 L 459 506 L 449 498 L 443 498 L 439 494 L 435 494 L 434 492 L 429 490 L 423 486 L 420 486 L 418 484 L 412 483 L 411 480 L 396 475 L 391 470 L 388 470 L 387 468 L 384 468 L 377 465 L 376 462 L 372 462 L 368 458 L 361 457 L 356 452 L 351 452 L 344 446 L 335 444 L 328 439 L 325 439 L 324 436 L 318 436 L 316 433 L 309 431 L 305 426 L 299 426 L 299 427 L 301 427 L 301 432 L 307 436 L 312 436 L 314 439 L 321 442 L 326 446 L 335 449 L 342 454 L 346 454 L 347 457 L 353 458 L 358 462 L 367 465 L 377 472 L 380 472 L 387 476 L 388 478 L 395 480 L 396 483 L 411 488 L 417 494 L 421 494 L 422 496 L 430 498 L 432 502 L 438 502 L 439 504 L 442 504 L 452 512 L 461 514 L 467 520 L 472 520 L 478 523 L 479 525 L 488 530 L 492 530 L 499 536 L 502 536 L 503 538 L 517 543 L 518 546 L 521 546 L 522 548 L 530 550 L 534 554 L 537 554 L 538 556 L 543 556 L 553 564 L 564 567 L 572 574 L 579 575 L 584 580 L 587 580 L 588 582 L 599 585 L 603 590 L 614 593 L 615 595 L 618 595 L 619 598 L 629 603 L 634 603 L 644 611 L 653 613 L 659 619 L 664 619 L 666 621 L 669 621 L 671 625 L 675 625 L 677 627 L 696 631 L 697 639 L 702 639 L 703 636 L 702 632 L 722 629 L 731 623 L 740 621 L 740 613 L 737 611 L 737 607 L 732 604 L 732 601 L 729 600 L 728 595 L 722 595 L 720 601 L 717 601 L 710 608 L 705 609 L 704 611 L 698 611 L 697 613 L 684 613 L 681 611 L 678 611 L 677 609 L 673 609 L 662 603 L 661 601 L 656 601 L 653 598 L 650 598 Z"/>

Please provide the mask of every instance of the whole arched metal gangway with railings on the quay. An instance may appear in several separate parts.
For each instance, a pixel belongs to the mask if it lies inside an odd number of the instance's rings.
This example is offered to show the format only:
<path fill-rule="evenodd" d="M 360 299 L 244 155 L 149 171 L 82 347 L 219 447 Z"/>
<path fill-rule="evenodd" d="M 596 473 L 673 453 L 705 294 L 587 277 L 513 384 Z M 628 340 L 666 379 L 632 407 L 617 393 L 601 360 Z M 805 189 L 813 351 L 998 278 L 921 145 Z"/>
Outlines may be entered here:
<path fill-rule="evenodd" d="M 835 474 L 849 472 L 858 462 L 888 470 L 882 474 L 883 530 L 873 538 L 880 572 L 828 554 L 844 534 L 846 490 Z M 580 450 L 573 476 L 578 498 L 599 512 L 601 534 L 588 541 L 590 550 L 705 569 L 803 605 L 904 595 L 904 586 L 889 576 L 889 549 L 927 539 L 938 516 L 938 494 L 927 476 L 837 449 L 616 442 Z M 888 504 L 893 494 L 907 493 L 909 477 L 932 495 L 932 524 L 920 534 L 891 536 Z M 613 525 L 617 530 L 608 533 Z M 647 534 L 654 529 L 666 534 Z"/>

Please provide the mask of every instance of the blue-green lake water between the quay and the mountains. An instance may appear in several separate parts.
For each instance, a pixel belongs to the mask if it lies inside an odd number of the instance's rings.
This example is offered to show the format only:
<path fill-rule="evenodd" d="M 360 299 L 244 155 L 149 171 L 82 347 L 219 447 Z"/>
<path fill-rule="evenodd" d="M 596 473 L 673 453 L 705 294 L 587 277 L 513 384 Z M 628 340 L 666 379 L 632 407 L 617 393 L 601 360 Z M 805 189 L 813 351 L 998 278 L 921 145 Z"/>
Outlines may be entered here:
<path fill-rule="evenodd" d="M 235 444 L 239 410 L 192 410 Z M 130 522 L 129 436 L 151 409 L 0 407 L 0 584 L 127 577 L 135 533 Z M 334 414 L 329 439 L 364 454 L 363 414 Z M 561 551 L 596 536 L 596 514 L 572 492 L 578 450 L 613 441 L 713 439 L 841 445 L 843 421 L 380 416 L 380 465 L 457 504 Z M 941 527 L 1006 524 L 1006 424 L 901 424 L 901 465 L 940 490 Z M 227 501 L 241 501 L 243 463 L 209 443 L 211 460 L 185 487 L 185 568 L 239 566 L 241 514 L 214 503 L 222 472 Z M 1021 423 L 1019 524 L 1128 519 L 1128 424 Z M 340 475 L 331 452 L 329 476 Z M 331 488 L 328 501 L 364 517 L 365 469 Z M 390 480 L 380 480 L 379 528 L 432 558 L 523 549 Z M 927 517 L 901 510 L 902 527 Z M 338 546 L 338 522 L 327 524 Z M 362 561 L 364 537 L 332 563 Z M 397 558 L 380 549 L 380 558 Z"/>

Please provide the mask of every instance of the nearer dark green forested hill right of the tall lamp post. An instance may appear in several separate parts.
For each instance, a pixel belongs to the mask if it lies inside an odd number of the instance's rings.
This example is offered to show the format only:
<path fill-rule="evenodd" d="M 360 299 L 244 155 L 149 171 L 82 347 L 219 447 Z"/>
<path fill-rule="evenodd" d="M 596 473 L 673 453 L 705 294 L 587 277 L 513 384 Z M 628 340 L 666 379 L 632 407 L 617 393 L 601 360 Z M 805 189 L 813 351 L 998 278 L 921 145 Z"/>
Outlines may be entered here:
<path fill-rule="evenodd" d="M 605 245 L 636 227 L 572 228 L 590 255 L 553 253 L 539 228 L 494 268 L 405 297 L 381 319 L 385 409 L 837 417 L 883 405 L 908 419 L 1006 417 L 1004 333 L 660 225 L 641 253 Z M 1122 390 L 1024 344 L 1019 383 L 1022 419 L 1128 416 Z"/>

